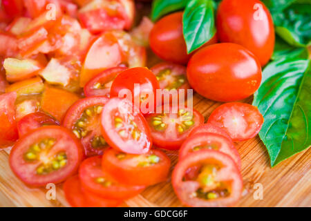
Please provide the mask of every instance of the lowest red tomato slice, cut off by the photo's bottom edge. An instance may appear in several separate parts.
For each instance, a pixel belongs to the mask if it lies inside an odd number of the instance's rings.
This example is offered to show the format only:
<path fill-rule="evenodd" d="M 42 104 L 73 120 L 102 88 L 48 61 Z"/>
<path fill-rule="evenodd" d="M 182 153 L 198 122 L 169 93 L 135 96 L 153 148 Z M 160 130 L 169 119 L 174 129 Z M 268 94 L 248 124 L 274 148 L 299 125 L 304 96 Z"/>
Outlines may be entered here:
<path fill-rule="evenodd" d="M 119 200 L 107 200 L 84 190 L 79 177 L 70 177 L 64 183 L 66 200 L 73 207 L 114 207 L 121 202 Z"/>

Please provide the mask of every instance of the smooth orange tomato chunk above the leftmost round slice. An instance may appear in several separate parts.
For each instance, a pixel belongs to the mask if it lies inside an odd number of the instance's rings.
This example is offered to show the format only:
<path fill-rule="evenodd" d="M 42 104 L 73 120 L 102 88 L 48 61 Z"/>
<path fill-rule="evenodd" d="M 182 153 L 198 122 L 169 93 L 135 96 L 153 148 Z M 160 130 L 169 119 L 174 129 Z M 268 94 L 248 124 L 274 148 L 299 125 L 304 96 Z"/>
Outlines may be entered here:
<path fill-rule="evenodd" d="M 68 108 L 78 99 L 79 96 L 75 93 L 46 86 L 41 98 L 41 108 L 42 111 L 49 113 L 59 122 L 62 122 Z"/>

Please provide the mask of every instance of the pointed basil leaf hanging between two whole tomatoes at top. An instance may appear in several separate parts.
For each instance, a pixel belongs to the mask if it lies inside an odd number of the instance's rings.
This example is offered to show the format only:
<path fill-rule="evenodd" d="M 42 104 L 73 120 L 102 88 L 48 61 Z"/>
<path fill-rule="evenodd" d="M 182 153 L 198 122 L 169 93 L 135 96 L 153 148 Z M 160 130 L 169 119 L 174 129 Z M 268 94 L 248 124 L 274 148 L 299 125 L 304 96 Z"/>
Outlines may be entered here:
<path fill-rule="evenodd" d="M 182 27 L 188 53 L 200 48 L 215 35 L 214 6 L 211 0 L 190 0 L 187 4 Z"/>

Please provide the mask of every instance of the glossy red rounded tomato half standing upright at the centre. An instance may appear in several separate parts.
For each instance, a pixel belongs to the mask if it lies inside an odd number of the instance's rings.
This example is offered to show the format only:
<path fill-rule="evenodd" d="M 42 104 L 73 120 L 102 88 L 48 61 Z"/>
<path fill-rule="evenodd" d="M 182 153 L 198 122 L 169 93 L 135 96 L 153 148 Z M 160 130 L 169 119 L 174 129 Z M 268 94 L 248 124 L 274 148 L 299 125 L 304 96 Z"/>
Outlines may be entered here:
<path fill-rule="evenodd" d="M 135 84 L 138 85 L 135 87 Z M 111 97 L 122 97 L 122 90 L 129 90 L 131 100 L 136 106 L 139 105 L 142 114 L 153 113 L 156 104 L 156 90 L 160 89 L 156 76 L 147 68 L 130 68 L 124 70 L 115 77 L 111 85 Z"/>

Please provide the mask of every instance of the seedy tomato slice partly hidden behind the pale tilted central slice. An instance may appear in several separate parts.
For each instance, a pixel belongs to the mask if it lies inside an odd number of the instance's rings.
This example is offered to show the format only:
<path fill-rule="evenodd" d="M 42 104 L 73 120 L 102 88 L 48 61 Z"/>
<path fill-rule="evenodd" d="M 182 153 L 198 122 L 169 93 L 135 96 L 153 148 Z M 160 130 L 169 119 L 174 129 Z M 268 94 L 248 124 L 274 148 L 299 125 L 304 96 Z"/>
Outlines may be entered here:
<path fill-rule="evenodd" d="M 100 131 L 100 115 L 108 101 L 106 97 L 87 97 L 68 109 L 62 125 L 81 140 L 87 157 L 102 155 L 108 144 Z"/>

